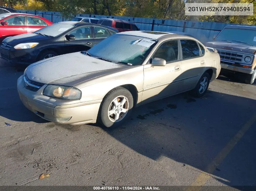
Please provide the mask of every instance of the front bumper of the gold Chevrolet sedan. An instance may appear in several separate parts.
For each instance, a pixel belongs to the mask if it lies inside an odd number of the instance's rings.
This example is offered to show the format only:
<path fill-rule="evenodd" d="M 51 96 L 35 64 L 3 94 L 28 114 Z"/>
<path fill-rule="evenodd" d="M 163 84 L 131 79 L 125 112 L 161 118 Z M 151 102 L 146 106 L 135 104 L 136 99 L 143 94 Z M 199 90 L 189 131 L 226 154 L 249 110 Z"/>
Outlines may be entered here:
<path fill-rule="evenodd" d="M 96 123 L 98 110 L 102 100 L 81 103 L 80 100 L 60 100 L 44 96 L 43 85 L 38 91 L 25 88 L 23 75 L 18 78 L 17 89 L 22 103 L 36 115 L 48 121 L 79 125 Z"/>

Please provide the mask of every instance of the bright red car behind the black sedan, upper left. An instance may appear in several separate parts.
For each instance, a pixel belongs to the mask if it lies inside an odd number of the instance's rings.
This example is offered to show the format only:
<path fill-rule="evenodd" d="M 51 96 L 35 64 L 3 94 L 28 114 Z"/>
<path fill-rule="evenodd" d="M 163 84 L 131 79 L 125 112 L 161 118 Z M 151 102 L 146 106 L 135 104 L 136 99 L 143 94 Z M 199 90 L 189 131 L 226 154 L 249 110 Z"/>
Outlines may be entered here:
<path fill-rule="evenodd" d="M 0 14 L 0 43 L 6 37 L 32 33 L 51 24 L 53 24 L 51 21 L 32 14 Z"/>

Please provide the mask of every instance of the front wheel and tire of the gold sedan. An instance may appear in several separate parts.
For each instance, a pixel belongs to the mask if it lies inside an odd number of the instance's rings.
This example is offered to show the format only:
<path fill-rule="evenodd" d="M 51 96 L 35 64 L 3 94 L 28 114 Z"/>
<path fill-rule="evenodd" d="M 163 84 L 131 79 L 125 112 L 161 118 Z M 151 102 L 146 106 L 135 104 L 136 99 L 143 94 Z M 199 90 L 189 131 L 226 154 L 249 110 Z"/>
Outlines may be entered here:
<path fill-rule="evenodd" d="M 118 127 L 130 118 L 132 109 L 133 97 L 131 92 L 122 87 L 114 88 L 106 94 L 101 102 L 98 122 L 105 127 Z M 127 110 L 127 112 L 124 113 L 124 110 Z M 109 111 L 114 113 L 108 115 Z"/>

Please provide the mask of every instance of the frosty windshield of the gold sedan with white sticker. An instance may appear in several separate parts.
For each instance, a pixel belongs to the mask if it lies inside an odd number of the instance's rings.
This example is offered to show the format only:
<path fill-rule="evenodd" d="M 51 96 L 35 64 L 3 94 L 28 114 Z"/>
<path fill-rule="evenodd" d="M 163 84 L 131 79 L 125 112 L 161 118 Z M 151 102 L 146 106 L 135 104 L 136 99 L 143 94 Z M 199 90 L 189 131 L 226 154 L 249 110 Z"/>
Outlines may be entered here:
<path fill-rule="evenodd" d="M 111 62 L 141 65 L 156 40 L 131 35 L 114 34 L 93 46 L 87 52 Z"/>

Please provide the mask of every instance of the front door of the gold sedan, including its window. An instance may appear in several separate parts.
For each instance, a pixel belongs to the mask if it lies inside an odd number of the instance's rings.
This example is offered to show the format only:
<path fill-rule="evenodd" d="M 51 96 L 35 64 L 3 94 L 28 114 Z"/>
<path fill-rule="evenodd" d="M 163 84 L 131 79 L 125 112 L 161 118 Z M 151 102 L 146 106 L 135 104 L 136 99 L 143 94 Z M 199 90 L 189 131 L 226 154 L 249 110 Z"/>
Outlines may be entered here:
<path fill-rule="evenodd" d="M 166 60 L 165 66 L 144 65 L 142 103 L 158 100 L 180 92 L 181 61 L 178 40 L 162 43 L 153 58 Z"/>

